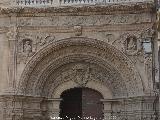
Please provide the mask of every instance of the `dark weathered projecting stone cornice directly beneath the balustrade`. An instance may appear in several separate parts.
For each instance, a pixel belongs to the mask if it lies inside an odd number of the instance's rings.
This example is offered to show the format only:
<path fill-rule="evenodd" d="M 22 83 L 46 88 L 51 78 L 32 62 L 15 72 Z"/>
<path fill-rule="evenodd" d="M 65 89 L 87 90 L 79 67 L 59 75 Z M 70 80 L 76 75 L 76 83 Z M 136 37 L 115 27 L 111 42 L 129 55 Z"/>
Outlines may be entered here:
<path fill-rule="evenodd" d="M 153 2 L 65 6 L 65 7 L 6 7 L 1 8 L 1 14 L 16 16 L 48 16 L 48 15 L 89 15 L 89 14 L 119 14 L 152 12 L 155 9 Z"/>

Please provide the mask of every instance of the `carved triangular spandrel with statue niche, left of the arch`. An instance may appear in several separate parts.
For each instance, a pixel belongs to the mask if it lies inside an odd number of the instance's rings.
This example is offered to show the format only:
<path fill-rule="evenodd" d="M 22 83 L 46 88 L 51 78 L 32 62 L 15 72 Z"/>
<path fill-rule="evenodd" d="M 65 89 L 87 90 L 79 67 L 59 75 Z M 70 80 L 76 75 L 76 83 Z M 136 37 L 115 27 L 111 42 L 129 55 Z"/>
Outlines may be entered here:
<path fill-rule="evenodd" d="M 26 63 L 39 49 L 55 40 L 55 36 L 48 33 L 22 33 L 18 37 L 18 63 Z"/>

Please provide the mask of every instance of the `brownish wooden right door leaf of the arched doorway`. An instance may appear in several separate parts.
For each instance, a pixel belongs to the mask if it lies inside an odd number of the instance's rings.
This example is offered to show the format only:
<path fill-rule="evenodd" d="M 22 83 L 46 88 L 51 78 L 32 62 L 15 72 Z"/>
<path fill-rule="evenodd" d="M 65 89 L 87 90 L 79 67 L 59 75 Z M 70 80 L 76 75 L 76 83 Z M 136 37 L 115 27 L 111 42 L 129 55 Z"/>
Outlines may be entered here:
<path fill-rule="evenodd" d="M 103 104 L 100 102 L 102 95 L 92 89 L 82 89 L 82 118 L 83 120 L 102 120 Z"/>

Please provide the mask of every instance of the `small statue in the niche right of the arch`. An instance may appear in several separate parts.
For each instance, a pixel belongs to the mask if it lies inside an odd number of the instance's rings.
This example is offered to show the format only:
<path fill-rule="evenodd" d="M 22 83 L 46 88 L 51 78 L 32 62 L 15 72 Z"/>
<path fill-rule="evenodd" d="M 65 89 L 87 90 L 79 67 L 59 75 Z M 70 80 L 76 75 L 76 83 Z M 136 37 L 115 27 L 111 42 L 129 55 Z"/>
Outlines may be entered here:
<path fill-rule="evenodd" d="M 127 50 L 137 50 L 137 39 L 134 36 L 127 38 Z"/>

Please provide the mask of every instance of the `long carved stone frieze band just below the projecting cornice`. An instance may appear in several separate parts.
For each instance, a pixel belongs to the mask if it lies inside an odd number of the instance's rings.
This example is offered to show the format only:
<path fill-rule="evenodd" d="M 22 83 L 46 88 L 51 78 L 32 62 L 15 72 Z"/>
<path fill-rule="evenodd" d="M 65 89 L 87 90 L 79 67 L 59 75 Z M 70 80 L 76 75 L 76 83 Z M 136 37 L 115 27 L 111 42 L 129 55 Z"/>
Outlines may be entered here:
<path fill-rule="evenodd" d="M 115 14 L 90 16 L 19 17 L 19 26 L 93 26 L 106 24 L 138 24 L 152 21 L 151 14 Z"/>

